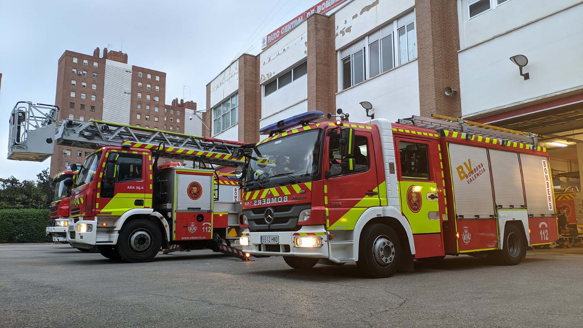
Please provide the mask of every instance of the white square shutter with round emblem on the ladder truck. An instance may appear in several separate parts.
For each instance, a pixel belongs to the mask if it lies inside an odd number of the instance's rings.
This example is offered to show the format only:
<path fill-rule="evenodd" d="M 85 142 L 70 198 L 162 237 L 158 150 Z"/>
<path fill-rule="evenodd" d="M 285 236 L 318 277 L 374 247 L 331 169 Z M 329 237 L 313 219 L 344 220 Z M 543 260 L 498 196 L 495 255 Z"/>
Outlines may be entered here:
<path fill-rule="evenodd" d="M 176 210 L 192 211 L 195 208 L 200 208 L 200 211 L 210 211 L 213 200 L 212 178 L 212 176 L 179 174 Z M 188 197 L 188 186 L 191 182 L 201 184 L 202 194 L 197 200 Z"/>

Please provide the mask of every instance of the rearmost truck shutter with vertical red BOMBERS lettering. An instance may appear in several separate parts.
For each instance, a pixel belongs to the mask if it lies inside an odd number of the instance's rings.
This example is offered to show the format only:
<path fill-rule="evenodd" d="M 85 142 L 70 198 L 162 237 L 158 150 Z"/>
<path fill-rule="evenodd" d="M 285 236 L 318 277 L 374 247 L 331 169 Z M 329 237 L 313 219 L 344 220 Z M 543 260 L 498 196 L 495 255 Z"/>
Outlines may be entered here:
<path fill-rule="evenodd" d="M 542 156 L 520 154 L 528 214 L 554 214 L 553 182 L 549 162 Z"/>

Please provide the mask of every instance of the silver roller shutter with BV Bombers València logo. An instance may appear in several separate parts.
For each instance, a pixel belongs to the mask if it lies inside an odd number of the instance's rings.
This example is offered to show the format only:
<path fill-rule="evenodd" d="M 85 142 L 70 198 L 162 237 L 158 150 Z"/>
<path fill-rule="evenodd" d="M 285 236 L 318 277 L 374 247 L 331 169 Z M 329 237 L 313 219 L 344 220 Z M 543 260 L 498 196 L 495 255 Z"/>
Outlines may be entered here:
<path fill-rule="evenodd" d="M 456 215 L 494 216 L 494 200 L 486 148 L 449 144 Z"/>

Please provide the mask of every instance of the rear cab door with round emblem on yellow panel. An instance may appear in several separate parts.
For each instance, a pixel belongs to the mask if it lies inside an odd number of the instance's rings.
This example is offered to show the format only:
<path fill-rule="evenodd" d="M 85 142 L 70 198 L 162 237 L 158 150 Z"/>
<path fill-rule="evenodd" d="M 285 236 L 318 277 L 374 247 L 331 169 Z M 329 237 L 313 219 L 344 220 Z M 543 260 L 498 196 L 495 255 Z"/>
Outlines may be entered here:
<path fill-rule="evenodd" d="M 442 256 L 445 197 L 439 142 L 395 137 L 395 152 L 401 212 L 411 225 L 415 257 Z"/>

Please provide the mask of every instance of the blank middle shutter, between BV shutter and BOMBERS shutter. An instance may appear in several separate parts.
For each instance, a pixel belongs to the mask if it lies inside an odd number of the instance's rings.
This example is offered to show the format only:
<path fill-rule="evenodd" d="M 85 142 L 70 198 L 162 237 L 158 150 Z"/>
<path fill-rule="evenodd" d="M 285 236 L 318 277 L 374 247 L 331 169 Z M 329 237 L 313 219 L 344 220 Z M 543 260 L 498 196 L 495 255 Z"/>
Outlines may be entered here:
<path fill-rule="evenodd" d="M 524 191 L 518 153 L 490 149 L 490 166 L 496 205 L 502 208 L 524 207 Z"/>

